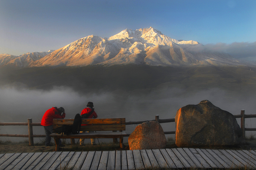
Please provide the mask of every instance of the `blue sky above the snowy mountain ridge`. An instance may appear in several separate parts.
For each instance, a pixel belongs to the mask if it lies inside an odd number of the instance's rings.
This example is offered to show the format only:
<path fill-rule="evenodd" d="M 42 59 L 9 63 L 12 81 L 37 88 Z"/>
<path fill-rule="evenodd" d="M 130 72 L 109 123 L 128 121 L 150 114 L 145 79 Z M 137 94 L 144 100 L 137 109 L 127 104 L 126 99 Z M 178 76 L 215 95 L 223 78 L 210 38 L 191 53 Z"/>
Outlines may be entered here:
<path fill-rule="evenodd" d="M 0 0 L 0 54 L 56 50 L 88 35 L 147 27 L 177 40 L 254 48 L 255 9 L 255 0 Z"/>

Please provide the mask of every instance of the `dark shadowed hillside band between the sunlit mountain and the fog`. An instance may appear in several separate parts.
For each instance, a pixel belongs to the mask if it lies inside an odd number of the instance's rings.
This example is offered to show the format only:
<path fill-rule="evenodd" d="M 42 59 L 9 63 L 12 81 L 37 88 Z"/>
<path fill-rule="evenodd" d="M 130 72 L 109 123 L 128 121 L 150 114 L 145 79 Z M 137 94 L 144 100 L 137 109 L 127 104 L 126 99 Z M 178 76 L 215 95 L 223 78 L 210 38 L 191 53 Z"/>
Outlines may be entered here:
<path fill-rule="evenodd" d="M 250 70 L 251 69 L 251 70 Z M 76 91 L 133 91 L 155 88 L 165 83 L 169 87 L 187 90 L 223 88 L 225 90 L 255 90 L 256 68 L 249 67 L 156 67 L 148 65 L 114 65 L 104 67 L 34 67 L 0 68 L 0 85 L 49 90 L 68 86 Z"/>

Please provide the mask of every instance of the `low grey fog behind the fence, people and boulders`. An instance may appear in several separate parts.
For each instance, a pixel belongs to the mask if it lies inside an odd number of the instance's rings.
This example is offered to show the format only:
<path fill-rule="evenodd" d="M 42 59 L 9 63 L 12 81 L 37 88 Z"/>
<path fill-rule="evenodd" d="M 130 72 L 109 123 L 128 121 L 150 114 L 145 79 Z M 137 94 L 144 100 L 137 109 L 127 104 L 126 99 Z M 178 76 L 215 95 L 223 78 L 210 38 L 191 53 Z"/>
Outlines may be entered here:
<path fill-rule="evenodd" d="M 145 92 L 146 91 L 146 92 Z M 55 87 L 50 91 L 28 90 L 0 87 L 0 122 L 41 122 L 46 110 L 51 107 L 64 107 L 65 118 L 74 118 L 81 113 L 87 102 L 93 102 L 98 118 L 125 117 L 126 121 L 153 120 L 155 115 L 160 119 L 174 118 L 180 107 L 198 104 L 202 100 L 209 100 L 215 106 L 232 114 L 255 114 L 255 95 L 227 92 L 218 88 L 198 92 L 184 89 L 162 87 L 155 90 L 140 90 L 124 92 L 98 92 L 79 94 L 68 87 Z M 237 119 L 240 125 L 240 119 Z M 251 128 L 255 120 L 246 119 L 246 127 Z M 175 131 L 175 123 L 161 124 L 164 131 Z M 131 133 L 136 125 L 127 125 L 127 133 Z M 35 126 L 34 134 L 44 134 L 44 128 Z M 28 134 L 27 126 L 0 126 L 1 134 Z M 251 132 L 246 132 L 249 136 Z M 173 135 L 167 135 L 174 137 Z M 22 137 L 0 137 L 0 140 L 23 141 Z M 34 141 L 42 139 L 35 138 Z M 99 139 L 101 142 L 103 139 Z M 125 137 L 125 142 L 128 137 Z"/>

